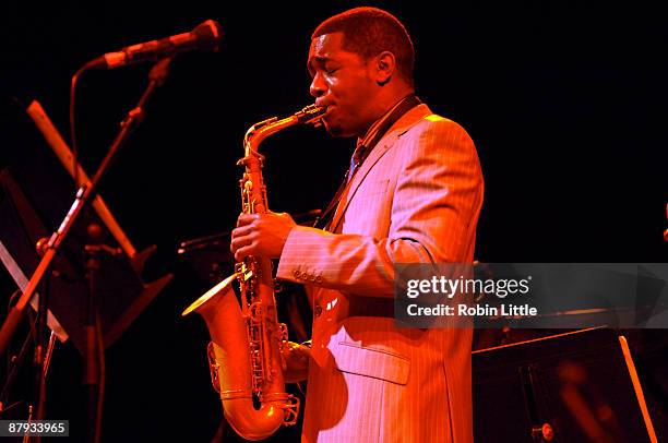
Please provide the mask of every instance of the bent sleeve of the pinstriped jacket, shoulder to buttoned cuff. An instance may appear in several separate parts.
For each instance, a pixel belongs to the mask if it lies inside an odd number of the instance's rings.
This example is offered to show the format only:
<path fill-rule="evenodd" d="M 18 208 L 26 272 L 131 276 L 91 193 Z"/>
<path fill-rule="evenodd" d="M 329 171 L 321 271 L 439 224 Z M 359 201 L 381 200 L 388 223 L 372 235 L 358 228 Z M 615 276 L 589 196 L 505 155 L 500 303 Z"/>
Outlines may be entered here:
<path fill-rule="evenodd" d="M 395 146 L 401 169 L 387 238 L 298 226 L 285 243 L 278 278 L 393 297 L 394 263 L 472 261 L 484 188 L 473 141 L 457 123 L 436 116 L 402 137 L 411 135 L 415 143 L 405 139 Z"/>

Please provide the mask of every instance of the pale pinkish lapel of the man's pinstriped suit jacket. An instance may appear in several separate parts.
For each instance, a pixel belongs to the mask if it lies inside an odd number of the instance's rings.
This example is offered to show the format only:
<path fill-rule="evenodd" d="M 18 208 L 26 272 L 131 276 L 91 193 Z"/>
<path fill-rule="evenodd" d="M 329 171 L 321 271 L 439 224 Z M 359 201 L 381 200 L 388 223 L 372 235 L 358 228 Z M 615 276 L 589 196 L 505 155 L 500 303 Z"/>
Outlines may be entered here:
<path fill-rule="evenodd" d="M 396 141 L 404 133 L 406 133 L 406 131 L 430 113 L 431 110 L 429 110 L 427 105 L 418 105 L 410 109 L 408 112 L 406 112 L 406 115 L 398 119 L 396 123 L 392 125 L 392 128 L 390 128 L 387 133 L 378 142 L 375 147 L 371 149 L 371 153 L 369 153 L 367 159 L 362 163 L 357 173 L 355 173 L 350 183 L 348 183 L 348 189 L 344 192 L 343 197 L 338 203 L 338 207 L 336 208 L 336 213 L 334 214 L 334 218 L 330 225 L 330 230 L 332 232 L 336 232 L 338 224 L 341 223 L 343 215 L 346 213 L 350 201 L 355 196 L 359 185 L 369 175 L 371 168 L 373 168 L 378 160 L 380 160 L 382 156 L 385 155 L 385 153 L 390 151 L 392 146 L 394 146 Z"/>

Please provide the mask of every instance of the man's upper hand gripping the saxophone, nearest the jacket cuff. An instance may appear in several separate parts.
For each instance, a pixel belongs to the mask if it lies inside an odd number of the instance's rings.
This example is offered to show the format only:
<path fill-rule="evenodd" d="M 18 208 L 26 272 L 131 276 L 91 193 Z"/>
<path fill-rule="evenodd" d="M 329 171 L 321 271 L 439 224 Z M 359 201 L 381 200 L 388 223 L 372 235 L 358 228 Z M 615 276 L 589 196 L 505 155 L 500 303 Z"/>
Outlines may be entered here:
<path fill-rule="evenodd" d="M 231 232 L 229 249 L 237 262 L 247 255 L 278 259 L 295 226 L 286 213 L 241 214 Z"/>

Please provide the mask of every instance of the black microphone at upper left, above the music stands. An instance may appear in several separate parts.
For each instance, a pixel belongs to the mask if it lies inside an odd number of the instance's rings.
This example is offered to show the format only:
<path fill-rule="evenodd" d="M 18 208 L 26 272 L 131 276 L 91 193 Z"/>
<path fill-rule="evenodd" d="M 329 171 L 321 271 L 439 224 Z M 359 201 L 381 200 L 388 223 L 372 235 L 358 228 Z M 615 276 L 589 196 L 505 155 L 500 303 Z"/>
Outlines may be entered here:
<path fill-rule="evenodd" d="M 116 52 L 107 52 L 87 62 L 84 69 L 114 69 L 144 61 L 155 61 L 191 50 L 216 52 L 220 41 L 223 41 L 223 27 L 215 20 L 207 20 L 189 33 L 127 46 Z"/>

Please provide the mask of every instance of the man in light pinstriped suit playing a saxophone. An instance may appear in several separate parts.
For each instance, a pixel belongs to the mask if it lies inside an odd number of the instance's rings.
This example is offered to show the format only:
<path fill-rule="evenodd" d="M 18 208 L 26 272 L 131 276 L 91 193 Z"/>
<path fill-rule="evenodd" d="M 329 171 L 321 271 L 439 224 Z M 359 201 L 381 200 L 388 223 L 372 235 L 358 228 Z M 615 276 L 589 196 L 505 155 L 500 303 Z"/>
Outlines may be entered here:
<path fill-rule="evenodd" d="M 385 11 L 357 8 L 312 35 L 308 69 L 333 136 L 357 137 L 324 229 L 243 214 L 237 261 L 278 259 L 310 287 L 302 441 L 472 442 L 470 328 L 397 328 L 393 263 L 470 263 L 482 204 L 475 146 L 415 95 L 414 48 Z M 300 352 L 297 348 L 296 352 Z"/>

